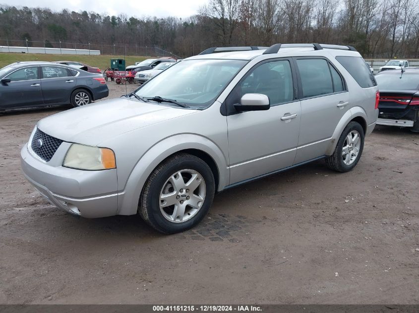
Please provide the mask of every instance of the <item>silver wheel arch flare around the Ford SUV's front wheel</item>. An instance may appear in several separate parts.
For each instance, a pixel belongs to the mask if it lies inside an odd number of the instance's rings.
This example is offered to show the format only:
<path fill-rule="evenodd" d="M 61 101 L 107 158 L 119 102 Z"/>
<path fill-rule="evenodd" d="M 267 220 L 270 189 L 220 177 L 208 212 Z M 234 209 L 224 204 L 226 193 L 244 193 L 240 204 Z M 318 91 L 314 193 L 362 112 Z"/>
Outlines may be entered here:
<path fill-rule="evenodd" d="M 153 170 L 170 155 L 186 149 L 196 149 L 207 153 L 218 168 L 218 190 L 220 191 L 228 185 L 230 173 L 227 168 L 227 158 L 217 144 L 207 137 L 197 134 L 170 136 L 156 143 L 138 160 L 128 177 L 123 192 L 118 197 L 117 214 L 136 214 L 142 188 Z"/>

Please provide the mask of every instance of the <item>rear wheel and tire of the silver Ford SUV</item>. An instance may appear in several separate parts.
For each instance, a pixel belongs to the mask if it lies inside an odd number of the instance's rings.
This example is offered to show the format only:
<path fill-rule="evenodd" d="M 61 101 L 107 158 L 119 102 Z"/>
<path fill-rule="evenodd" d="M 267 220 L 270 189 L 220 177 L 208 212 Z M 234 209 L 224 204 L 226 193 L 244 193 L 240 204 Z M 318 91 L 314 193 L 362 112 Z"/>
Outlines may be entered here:
<path fill-rule="evenodd" d="M 364 145 L 364 132 L 357 122 L 350 122 L 339 137 L 335 151 L 327 157 L 326 165 L 337 172 L 349 172 L 358 164 Z"/>

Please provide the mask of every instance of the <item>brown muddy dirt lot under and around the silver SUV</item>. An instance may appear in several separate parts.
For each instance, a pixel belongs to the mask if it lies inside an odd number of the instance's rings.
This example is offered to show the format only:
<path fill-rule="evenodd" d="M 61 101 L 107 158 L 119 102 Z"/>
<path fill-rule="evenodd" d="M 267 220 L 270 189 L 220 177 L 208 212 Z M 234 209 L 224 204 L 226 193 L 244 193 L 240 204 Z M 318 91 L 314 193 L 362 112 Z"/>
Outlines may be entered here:
<path fill-rule="evenodd" d="M 62 109 L 0 115 L 0 303 L 419 303 L 418 134 L 377 127 L 351 173 L 318 161 L 222 192 L 165 236 L 75 218 L 23 178 L 20 147 Z"/>

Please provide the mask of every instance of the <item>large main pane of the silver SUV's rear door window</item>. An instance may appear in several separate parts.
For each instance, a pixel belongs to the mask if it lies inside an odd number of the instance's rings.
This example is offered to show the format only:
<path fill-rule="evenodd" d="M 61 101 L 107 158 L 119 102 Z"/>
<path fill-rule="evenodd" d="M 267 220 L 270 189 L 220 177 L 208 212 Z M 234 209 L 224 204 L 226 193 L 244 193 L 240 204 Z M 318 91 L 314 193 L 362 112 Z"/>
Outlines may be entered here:
<path fill-rule="evenodd" d="M 324 59 L 298 59 L 297 66 L 304 98 L 333 93 L 329 63 Z"/>

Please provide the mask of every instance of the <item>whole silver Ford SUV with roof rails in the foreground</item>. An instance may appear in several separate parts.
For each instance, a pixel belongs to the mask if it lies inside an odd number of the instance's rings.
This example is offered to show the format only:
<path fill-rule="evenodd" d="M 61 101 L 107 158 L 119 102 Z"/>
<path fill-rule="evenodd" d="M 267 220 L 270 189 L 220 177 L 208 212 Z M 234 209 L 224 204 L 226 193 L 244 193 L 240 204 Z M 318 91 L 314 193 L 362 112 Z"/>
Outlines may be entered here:
<path fill-rule="evenodd" d="M 69 213 L 138 213 L 175 233 L 227 188 L 321 158 L 352 170 L 377 99 L 353 47 L 211 48 L 126 96 L 39 121 L 22 169 Z"/>

